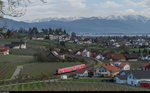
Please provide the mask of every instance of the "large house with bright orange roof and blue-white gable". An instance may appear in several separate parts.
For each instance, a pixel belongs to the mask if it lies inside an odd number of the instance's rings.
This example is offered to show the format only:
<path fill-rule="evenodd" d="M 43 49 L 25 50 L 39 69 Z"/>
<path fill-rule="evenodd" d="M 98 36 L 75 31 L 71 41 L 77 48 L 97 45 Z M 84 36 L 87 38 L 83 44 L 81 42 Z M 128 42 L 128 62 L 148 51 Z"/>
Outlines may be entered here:
<path fill-rule="evenodd" d="M 114 65 L 105 64 L 99 69 L 100 76 L 114 77 L 120 72 L 120 69 Z"/>

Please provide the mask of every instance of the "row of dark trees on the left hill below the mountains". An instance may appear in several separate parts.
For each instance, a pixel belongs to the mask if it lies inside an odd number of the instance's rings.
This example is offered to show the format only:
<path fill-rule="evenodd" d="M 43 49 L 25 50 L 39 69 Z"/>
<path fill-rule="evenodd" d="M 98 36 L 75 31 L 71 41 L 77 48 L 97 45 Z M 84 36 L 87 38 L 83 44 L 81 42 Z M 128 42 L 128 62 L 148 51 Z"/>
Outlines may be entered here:
<path fill-rule="evenodd" d="M 14 34 L 15 33 L 15 34 Z M 0 28 L 0 38 L 29 38 L 32 39 L 33 37 L 44 37 L 49 39 L 49 35 L 68 35 L 66 30 L 57 28 L 57 29 L 41 29 L 40 31 L 37 27 L 29 28 L 28 30 L 24 28 L 19 28 L 19 30 L 13 29 L 6 29 L 6 27 Z"/>

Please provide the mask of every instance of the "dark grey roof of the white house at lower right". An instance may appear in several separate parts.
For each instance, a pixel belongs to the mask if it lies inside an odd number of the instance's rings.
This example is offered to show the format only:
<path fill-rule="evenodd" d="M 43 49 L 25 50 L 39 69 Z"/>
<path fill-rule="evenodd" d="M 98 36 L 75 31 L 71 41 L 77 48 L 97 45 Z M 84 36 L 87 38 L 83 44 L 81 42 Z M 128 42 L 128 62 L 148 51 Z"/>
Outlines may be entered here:
<path fill-rule="evenodd" d="M 136 79 L 150 79 L 150 71 L 133 70 L 131 73 Z"/>

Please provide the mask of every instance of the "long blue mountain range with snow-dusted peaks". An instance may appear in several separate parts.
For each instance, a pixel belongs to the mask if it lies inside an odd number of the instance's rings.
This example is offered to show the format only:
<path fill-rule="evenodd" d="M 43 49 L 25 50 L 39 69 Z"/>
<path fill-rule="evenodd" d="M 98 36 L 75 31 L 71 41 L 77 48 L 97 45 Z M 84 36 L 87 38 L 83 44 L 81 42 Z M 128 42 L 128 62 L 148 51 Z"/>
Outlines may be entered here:
<path fill-rule="evenodd" d="M 110 16 L 106 18 L 48 18 L 32 23 L 19 22 L 11 19 L 0 20 L 0 26 L 7 23 L 9 29 L 23 27 L 62 28 L 67 32 L 76 33 L 150 33 L 150 19 L 143 16 Z"/>

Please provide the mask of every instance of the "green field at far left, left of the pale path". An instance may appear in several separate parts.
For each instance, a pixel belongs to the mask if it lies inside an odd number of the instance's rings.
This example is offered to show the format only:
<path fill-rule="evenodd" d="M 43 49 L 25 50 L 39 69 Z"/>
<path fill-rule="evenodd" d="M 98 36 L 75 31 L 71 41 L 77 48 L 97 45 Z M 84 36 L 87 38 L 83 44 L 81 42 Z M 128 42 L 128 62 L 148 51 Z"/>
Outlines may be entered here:
<path fill-rule="evenodd" d="M 18 65 L 33 62 L 32 56 L 0 56 L 0 80 L 10 79 Z"/>

